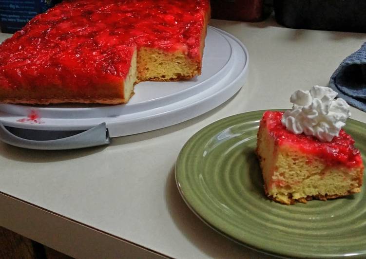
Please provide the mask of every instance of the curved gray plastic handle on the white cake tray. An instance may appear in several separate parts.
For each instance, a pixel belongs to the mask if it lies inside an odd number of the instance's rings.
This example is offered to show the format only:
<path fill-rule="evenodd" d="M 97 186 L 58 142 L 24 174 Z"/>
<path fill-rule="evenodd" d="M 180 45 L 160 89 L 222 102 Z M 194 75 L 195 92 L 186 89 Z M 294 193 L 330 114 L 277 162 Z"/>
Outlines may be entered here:
<path fill-rule="evenodd" d="M 22 130 L 19 128 L 11 128 L 9 129 L 17 129 Z M 42 130 L 30 130 L 24 129 L 27 132 L 35 131 L 34 134 L 40 134 Z M 10 132 L 5 126 L 0 122 L 0 140 L 16 147 L 20 148 L 29 148 L 29 149 L 43 149 L 43 150 L 61 150 L 61 149 L 76 149 L 76 148 L 87 148 L 87 147 L 95 147 L 101 145 L 107 145 L 111 143 L 108 129 L 106 128 L 105 123 L 101 123 L 92 129 L 88 129 L 82 132 L 78 132 L 75 135 L 67 136 L 63 138 L 57 139 L 50 139 L 49 133 L 52 131 L 44 131 L 47 132 L 48 140 L 38 140 L 37 138 L 32 139 L 23 138 L 20 136 L 15 135 L 14 133 Z M 60 131 L 55 131 L 60 132 Z M 72 132 L 72 131 L 71 131 Z M 27 133 L 29 134 L 29 133 Z M 24 134 L 22 134 L 24 135 Z M 35 140 L 37 139 L 37 140 Z"/>

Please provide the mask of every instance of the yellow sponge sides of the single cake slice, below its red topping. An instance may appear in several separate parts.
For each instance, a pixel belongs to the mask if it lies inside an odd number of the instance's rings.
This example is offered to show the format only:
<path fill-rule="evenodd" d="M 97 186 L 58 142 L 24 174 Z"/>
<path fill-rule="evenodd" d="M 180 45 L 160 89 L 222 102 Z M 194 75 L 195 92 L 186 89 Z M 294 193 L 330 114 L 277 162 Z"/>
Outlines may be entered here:
<path fill-rule="evenodd" d="M 276 202 L 306 203 L 313 199 L 334 199 L 361 191 L 364 166 L 331 166 L 321 158 L 289 145 L 277 145 L 263 119 L 257 134 L 256 153 L 266 195 Z"/>

